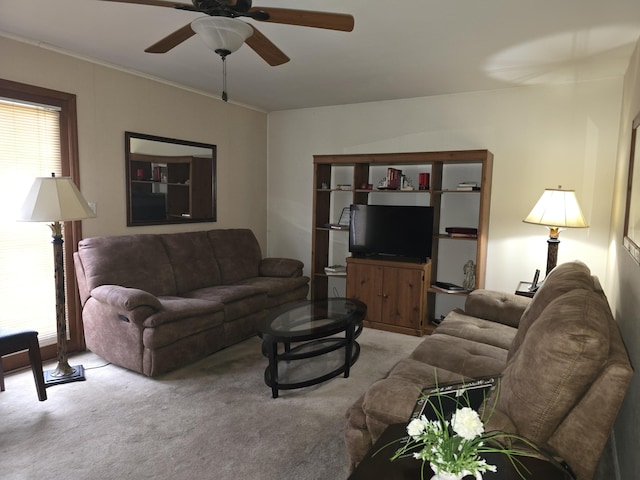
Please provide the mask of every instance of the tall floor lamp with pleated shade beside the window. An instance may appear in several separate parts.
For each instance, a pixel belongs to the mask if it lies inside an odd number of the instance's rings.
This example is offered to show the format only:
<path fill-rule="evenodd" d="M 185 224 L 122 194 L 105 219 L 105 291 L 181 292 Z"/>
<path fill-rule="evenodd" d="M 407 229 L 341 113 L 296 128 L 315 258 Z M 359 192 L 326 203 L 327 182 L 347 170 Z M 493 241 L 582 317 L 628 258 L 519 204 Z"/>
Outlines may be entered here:
<path fill-rule="evenodd" d="M 56 293 L 57 360 L 55 370 L 44 372 L 45 385 L 84 380 L 82 365 L 71 367 L 67 355 L 67 316 L 64 293 L 62 222 L 95 217 L 71 177 L 38 177 L 22 205 L 19 220 L 51 222 Z"/>

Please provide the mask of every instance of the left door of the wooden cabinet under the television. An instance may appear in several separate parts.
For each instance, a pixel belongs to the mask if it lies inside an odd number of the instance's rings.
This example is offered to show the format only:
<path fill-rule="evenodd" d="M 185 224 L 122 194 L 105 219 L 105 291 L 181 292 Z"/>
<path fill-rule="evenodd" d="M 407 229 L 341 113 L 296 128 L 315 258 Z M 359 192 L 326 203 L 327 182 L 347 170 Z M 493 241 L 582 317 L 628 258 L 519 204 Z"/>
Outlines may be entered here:
<path fill-rule="evenodd" d="M 383 268 L 375 265 L 349 263 L 347 296 L 367 306 L 365 320 L 381 322 Z"/>

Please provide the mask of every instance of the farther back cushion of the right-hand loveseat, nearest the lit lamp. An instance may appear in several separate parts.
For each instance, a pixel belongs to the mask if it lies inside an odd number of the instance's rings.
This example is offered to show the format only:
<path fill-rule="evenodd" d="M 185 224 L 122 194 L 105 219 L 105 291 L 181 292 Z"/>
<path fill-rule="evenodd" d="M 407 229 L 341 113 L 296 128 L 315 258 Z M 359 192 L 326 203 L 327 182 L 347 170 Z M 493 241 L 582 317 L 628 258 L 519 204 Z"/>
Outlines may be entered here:
<path fill-rule="evenodd" d="M 593 277 L 589 267 L 579 261 L 563 263 L 549 272 L 520 318 L 518 332 L 509 348 L 507 360 L 515 355 L 531 325 L 553 300 L 576 288 L 592 291 L 593 285 Z"/>

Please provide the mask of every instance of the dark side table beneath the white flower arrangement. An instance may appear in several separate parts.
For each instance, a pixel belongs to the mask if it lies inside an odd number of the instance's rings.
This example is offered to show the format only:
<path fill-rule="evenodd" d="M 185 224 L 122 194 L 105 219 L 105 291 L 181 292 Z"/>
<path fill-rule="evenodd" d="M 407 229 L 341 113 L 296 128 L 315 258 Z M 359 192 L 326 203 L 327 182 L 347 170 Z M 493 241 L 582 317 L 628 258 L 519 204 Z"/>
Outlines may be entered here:
<path fill-rule="evenodd" d="M 389 460 L 400 446 L 394 440 L 407 434 L 405 428 L 404 423 L 390 425 L 348 480 L 420 480 L 421 461 L 412 457 L 399 458 L 393 462 Z M 482 457 L 487 460 L 487 463 L 498 468 L 497 472 L 484 473 L 483 480 L 522 480 L 505 455 L 487 453 Z M 529 470 L 529 473 L 524 472 L 527 480 L 574 480 L 574 477 L 557 462 L 533 457 L 518 457 L 518 459 Z M 424 478 L 429 479 L 433 473 L 428 465 L 425 468 Z M 473 478 L 467 476 L 465 480 L 473 480 Z"/>

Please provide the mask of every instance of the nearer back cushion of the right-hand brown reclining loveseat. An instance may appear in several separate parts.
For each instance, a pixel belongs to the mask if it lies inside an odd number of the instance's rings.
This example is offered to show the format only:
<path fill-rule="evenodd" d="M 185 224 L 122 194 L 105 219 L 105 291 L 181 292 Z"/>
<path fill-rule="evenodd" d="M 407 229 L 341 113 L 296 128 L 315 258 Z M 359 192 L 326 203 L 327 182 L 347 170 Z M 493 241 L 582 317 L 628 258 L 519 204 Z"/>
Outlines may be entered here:
<path fill-rule="evenodd" d="M 507 362 L 497 409 L 538 446 L 601 374 L 609 355 L 609 306 L 575 289 L 550 302 Z"/>

